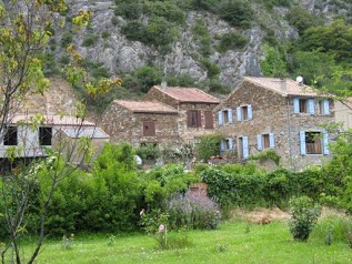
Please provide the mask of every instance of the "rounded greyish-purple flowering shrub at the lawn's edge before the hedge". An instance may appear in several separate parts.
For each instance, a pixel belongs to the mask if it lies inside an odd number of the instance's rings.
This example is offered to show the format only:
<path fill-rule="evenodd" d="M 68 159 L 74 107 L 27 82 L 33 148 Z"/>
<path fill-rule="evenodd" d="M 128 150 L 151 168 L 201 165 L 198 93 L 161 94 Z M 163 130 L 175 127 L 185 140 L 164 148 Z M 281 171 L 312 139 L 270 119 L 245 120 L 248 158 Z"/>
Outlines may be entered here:
<path fill-rule="evenodd" d="M 175 195 L 168 204 L 169 223 L 174 229 L 217 229 L 221 213 L 217 203 L 208 196 L 187 192 Z"/>

